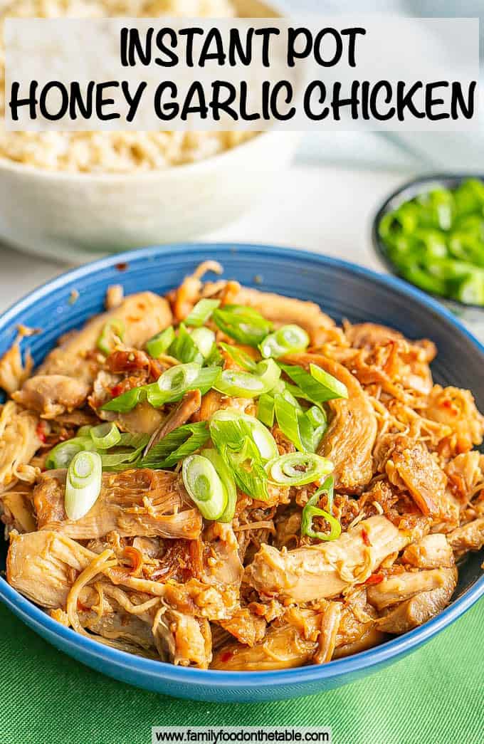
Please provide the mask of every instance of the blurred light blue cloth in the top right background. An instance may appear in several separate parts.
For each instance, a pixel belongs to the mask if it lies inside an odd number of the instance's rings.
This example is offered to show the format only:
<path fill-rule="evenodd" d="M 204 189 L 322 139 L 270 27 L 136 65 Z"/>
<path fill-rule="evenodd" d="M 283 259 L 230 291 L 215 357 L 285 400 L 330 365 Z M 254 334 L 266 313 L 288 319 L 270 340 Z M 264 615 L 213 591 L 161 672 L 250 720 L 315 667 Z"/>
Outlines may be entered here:
<path fill-rule="evenodd" d="M 484 53 L 483 0 L 279 0 L 298 16 L 382 13 L 412 18 L 479 18 Z M 482 82 L 482 81 L 481 81 Z M 479 132 L 317 132 L 303 139 L 299 159 L 414 172 L 448 170 L 484 173 L 484 122 Z"/>

